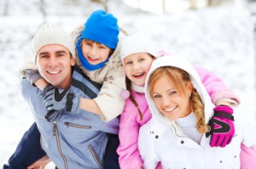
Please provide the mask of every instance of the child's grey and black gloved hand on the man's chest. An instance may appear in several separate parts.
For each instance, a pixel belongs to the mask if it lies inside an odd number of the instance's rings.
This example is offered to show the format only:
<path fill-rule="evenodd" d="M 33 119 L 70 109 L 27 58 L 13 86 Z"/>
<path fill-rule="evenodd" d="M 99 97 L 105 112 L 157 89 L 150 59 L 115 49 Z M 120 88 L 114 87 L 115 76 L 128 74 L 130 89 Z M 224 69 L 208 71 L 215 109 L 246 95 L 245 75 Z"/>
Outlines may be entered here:
<path fill-rule="evenodd" d="M 47 110 L 76 111 L 79 108 L 79 94 L 74 94 L 66 89 L 49 88 L 45 93 L 44 104 Z"/>

